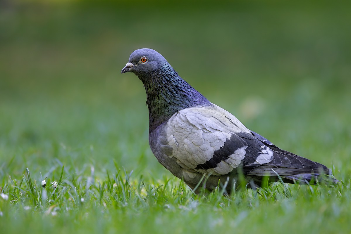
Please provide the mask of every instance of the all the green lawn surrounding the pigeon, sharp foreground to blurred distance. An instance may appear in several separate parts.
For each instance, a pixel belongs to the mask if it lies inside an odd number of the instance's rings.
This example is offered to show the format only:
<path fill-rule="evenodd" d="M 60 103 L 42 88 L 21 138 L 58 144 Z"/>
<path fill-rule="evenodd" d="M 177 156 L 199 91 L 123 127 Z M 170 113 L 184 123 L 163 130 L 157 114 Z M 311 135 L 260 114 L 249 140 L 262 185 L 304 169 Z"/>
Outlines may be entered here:
<path fill-rule="evenodd" d="M 351 16 L 285 4 L 4 4 L 1 233 L 349 233 Z M 120 74 L 140 47 L 342 182 L 193 194 L 153 156 L 142 83 Z"/>

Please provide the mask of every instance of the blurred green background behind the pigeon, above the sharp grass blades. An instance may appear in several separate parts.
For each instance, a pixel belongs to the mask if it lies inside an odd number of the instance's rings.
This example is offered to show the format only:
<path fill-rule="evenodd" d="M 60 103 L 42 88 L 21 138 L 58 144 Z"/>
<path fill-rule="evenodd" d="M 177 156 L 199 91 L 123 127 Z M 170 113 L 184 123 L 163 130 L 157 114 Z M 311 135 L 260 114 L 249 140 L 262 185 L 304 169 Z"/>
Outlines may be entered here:
<path fill-rule="evenodd" d="M 274 144 L 343 168 L 350 22 L 346 1 L 2 0 L 0 177 L 104 173 L 113 160 L 171 176 L 148 146 L 143 85 L 120 74 L 139 48 Z"/>

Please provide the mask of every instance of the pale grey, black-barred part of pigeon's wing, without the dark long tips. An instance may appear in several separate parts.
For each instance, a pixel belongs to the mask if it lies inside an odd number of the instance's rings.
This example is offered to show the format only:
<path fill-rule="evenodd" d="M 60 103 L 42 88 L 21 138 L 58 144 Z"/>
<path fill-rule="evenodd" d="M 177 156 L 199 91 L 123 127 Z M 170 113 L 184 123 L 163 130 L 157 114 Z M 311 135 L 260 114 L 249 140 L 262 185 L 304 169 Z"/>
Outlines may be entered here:
<path fill-rule="evenodd" d="M 239 165 L 273 160 L 273 150 L 216 105 L 177 112 L 168 120 L 166 138 L 177 163 L 190 172 L 224 175 Z"/>

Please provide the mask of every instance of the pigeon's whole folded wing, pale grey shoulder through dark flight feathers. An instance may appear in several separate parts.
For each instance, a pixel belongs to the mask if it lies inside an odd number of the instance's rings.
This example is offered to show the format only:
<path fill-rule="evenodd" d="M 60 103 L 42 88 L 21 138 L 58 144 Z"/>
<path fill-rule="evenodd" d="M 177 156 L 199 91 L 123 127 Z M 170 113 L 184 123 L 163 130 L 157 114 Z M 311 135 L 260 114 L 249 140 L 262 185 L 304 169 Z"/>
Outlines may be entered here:
<path fill-rule="evenodd" d="M 310 174 L 330 173 L 322 164 L 279 149 L 216 105 L 177 112 L 167 123 L 166 138 L 188 174 L 225 175 L 239 166 L 247 175 L 279 174 L 289 180 L 289 175 L 311 179 Z"/>

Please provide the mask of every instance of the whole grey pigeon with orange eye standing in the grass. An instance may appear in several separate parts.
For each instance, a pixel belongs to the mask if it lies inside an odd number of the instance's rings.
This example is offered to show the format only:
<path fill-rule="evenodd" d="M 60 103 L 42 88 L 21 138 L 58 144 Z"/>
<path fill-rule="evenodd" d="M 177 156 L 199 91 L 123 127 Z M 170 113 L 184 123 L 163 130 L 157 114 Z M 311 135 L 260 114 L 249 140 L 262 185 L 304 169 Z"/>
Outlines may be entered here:
<path fill-rule="evenodd" d="M 222 187 L 229 194 L 239 185 L 277 181 L 337 183 L 326 166 L 279 149 L 208 101 L 157 51 L 135 50 L 121 71 L 127 72 L 144 84 L 151 151 L 195 193 Z"/>

